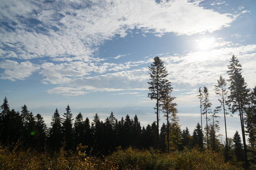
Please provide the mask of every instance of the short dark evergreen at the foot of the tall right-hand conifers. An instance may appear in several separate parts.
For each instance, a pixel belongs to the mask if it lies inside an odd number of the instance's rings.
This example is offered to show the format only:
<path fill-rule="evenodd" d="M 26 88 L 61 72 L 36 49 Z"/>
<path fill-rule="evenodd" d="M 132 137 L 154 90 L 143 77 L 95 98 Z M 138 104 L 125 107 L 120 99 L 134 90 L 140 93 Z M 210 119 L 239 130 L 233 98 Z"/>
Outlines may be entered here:
<path fill-rule="evenodd" d="M 233 137 L 233 142 L 234 142 L 234 154 L 238 160 L 238 162 L 242 162 L 243 161 L 243 148 L 242 148 L 242 143 L 241 143 L 241 137 L 238 134 L 238 131 L 236 131 L 236 133 L 234 134 Z"/>

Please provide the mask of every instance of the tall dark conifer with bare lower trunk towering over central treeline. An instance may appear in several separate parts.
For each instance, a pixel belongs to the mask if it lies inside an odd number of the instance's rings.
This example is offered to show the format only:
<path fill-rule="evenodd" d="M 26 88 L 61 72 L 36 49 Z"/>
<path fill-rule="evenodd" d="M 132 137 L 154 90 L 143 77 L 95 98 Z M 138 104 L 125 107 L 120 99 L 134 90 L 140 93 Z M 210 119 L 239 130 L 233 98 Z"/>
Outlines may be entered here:
<path fill-rule="evenodd" d="M 166 79 L 168 72 L 166 67 L 164 66 L 164 62 L 159 57 L 155 57 L 153 63 L 150 67 L 150 82 L 148 84 L 148 97 L 150 99 L 156 100 L 156 125 L 158 128 L 158 136 L 159 136 L 159 109 L 160 109 L 160 100 L 162 99 L 163 90 L 171 86 L 171 83 Z M 158 139 L 157 136 L 157 139 Z"/>

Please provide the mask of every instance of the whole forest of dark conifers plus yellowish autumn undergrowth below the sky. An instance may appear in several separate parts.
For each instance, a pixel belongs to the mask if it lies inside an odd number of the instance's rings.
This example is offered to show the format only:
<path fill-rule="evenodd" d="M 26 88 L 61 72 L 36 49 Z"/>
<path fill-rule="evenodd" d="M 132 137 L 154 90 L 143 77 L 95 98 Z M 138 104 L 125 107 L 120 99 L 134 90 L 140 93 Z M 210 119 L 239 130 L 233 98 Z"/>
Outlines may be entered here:
<path fill-rule="evenodd" d="M 181 129 L 172 84 L 164 62 L 155 57 L 148 82 L 148 97 L 156 101 L 156 121 L 142 127 L 139 115 L 121 120 L 114 113 L 93 120 L 73 116 L 69 105 L 61 116 L 53 111 L 47 127 L 41 114 L 23 105 L 11 109 L 4 97 L 0 113 L 0 169 L 255 169 L 256 86 L 247 88 L 242 66 L 230 58 L 227 74 L 214 90 L 220 101 L 212 108 L 207 87 L 199 87 L 201 120 L 195 129 Z M 162 112 L 166 122 L 159 125 Z M 242 134 L 227 137 L 226 116 L 238 114 Z M 220 127 L 214 118 L 225 121 Z M 205 118 L 206 124 L 202 124 Z M 225 142 L 218 139 L 225 129 Z M 247 137 L 247 138 L 246 138 Z"/>

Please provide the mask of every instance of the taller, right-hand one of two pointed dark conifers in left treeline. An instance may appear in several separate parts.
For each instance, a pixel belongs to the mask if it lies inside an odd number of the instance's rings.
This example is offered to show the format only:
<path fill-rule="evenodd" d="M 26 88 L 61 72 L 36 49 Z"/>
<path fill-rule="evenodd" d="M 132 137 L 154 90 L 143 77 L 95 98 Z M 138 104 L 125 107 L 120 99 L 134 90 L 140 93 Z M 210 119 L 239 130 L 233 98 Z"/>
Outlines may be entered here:
<path fill-rule="evenodd" d="M 73 114 L 69 105 L 66 108 L 66 113 L 63 114 L 62 130 L 65 143 L 65 148 L 71 150 L 73 148 Z"/>

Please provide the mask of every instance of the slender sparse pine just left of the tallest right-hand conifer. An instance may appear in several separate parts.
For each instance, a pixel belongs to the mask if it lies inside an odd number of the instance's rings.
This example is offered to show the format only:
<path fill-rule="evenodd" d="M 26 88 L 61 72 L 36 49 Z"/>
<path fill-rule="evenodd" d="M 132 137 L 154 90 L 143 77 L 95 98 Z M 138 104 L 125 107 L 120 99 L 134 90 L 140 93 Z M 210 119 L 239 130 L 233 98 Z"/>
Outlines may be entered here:
<path fill-rule="evenodd" d="M 227 112 L 226 108 L 229 108 L 228 105 L 228 99 L 227 99 L 227 95 L 228 95 L 228 91 L 226 90 L 226 80 L 224 78 L 222 78 L 222 76 L 220 76 L 220 79 L 217 80 L 217 85 L 214 86 L 214 90 L 216 95 L 221 96 L 221 99 L 218 99 L 218 101 L 220 101 L 220 106 L 218 106 L 216 109 L 216 111 L 223 111 L 224 113 L 224 123 L 225 123 L 225 135 L 226 135 L 226 144 L 228 144 L 228 135 L 226 132 L 226 114 L 229 114 Z M 227 146 L 225 146 L 226 148 L 228 148 Z"/>

